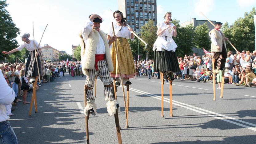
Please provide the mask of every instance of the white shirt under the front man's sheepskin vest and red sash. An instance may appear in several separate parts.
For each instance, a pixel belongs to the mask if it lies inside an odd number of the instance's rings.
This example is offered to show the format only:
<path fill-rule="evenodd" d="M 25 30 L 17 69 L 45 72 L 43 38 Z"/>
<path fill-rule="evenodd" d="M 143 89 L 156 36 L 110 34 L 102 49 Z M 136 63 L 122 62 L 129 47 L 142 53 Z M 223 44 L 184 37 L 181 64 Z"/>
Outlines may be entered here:
<path fill-rule="evenodd" d="M 87 40 L 88 40 L 88 36 L 92 31 L 92 26 L 93 26 L 93 22 L 91 22 L 91 20 L 88 18 L 85 25 L 82 27 L 82 36 L 84 39 L 84 43 L 85 45 L 87 45 Z M 99 42 L 96 46 L 96 52 L 95 54 L 105 54 L 106 50 L 105 50 L 105 45 L 104 45 L 104 41 L 102 39 L 102 37 L 99 34 Z"/>

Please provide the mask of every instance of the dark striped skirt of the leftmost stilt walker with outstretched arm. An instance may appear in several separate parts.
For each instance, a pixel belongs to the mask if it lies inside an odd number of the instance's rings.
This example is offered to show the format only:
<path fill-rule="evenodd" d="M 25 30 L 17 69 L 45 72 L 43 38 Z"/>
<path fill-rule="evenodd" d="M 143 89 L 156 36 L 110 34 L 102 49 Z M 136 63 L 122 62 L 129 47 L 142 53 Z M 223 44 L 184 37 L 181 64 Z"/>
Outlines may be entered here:
<path fill-rule="evenodd" d="M 25 67 L 25 75 L 28 78 L 35 78 L 38 76 L 45 75 L 43 53 L 40 51 L 40 53 L 37 56 L 38 66 L 37 66 L 36 59 L 33 65 L 34 58 L 35 58 L 35 51 L 30 51 L 28 55 L 26 67 Z M 39 74 L 38 74 L 38 69 L 39 69 Z"/>

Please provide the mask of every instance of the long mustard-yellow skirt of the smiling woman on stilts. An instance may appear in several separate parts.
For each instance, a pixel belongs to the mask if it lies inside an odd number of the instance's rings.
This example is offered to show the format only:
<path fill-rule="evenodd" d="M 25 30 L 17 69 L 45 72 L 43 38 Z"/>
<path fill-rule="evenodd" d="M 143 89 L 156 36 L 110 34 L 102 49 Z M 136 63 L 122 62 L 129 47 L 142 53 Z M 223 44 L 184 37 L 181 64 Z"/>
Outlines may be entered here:
<path fill-rule="evenodd" d="M 132 57 L 132 51 L 130 44 L 126 38 L 117 38 L 117 47 L 118 47 L 118 57 L 120 61 L 120 69 L 123 78 L 133 78 L 136 71 L 134 69 L 134 61 Z M 110 77 L 119 78 L 119 66 L 116 57 L 115 44 L 112 44 L 111 48 L 111 58 L 114 66 L 114 71 L 110 73 Z"/>

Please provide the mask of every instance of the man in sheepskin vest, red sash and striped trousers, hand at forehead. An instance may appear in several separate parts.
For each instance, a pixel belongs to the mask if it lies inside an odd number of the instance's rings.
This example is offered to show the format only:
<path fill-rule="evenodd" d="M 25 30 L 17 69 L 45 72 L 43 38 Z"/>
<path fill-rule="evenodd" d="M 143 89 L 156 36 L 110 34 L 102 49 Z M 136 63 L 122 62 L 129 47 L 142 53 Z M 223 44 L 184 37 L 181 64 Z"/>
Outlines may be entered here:
<path fill-rule="evenodd" d="M 109 72 L 113 71 L 113 63 L 110 56 L 109 45 L 116 39 L 112 37 L 109 41 L 106 34 L 100 30 L 102 19 L 98 14 L 91 14 L 87 19 L 85 26 L 82 28 L 82 38 L 84 46 L 81 50 L 82 72 L 86 75 L 85 85 L 88 88 L 87 105 L 85 114 L 95 115 L 96 104 L 94 103 L 93 87 L 94 80 L 98 75 L 104 85 L 104 96 L 107 102 L 107 111 L 109 115 L 114 115 L 119 107 L 118 102 L 113 96 L 113 82 L 111 81 Z M 119 108 L 120 109 L 120 108 Z"/>

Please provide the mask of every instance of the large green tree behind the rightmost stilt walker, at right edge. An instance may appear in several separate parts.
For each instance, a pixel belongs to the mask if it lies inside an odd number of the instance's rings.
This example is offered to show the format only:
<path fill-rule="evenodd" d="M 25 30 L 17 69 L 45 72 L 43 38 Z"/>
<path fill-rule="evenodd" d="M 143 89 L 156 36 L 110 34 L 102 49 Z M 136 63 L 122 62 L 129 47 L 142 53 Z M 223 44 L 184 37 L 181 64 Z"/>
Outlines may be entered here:
<path fill-rule="evenodd" d="M 237 50 L 255 50 L 255 28 L 254 17 L 256 14 L 255 7 L 248 13 L 245 12 L 244 18 L 238 18 L 235 20 L 233 26 L 228 23 L 223 24 L 223 33 L 230 42 L 236 47 Z M 234 48 L 230 44 L 226 44 L 227 49 L 234 51 Z"/>

